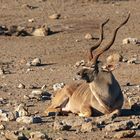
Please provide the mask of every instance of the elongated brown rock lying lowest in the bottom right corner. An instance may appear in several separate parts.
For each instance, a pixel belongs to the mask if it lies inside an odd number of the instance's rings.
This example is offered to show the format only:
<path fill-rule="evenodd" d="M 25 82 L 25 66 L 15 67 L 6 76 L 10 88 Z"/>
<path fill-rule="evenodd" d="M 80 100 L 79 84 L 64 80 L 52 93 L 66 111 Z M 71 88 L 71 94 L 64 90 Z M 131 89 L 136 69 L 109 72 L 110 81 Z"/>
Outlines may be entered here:
<path fill-rule="evenodd" d="M 126 131 L 120 131 L 116 132 L 114 135 L 114 138 L 132 138 L 136 134 L 136 131 L 134 130 L 126 130 Z"/>

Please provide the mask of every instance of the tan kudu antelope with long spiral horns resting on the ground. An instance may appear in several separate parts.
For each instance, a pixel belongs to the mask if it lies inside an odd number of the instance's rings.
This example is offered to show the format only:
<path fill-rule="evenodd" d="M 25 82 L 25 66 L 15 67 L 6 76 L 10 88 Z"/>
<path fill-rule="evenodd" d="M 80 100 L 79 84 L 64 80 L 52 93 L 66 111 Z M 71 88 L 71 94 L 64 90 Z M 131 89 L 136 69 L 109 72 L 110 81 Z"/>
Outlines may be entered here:
<path fill-rule="evenodd" d="M 100 47 L 103 40 L 103 26 L 100 26 L 99 41 L 90 48 L 88 67 L 83 68 L 77 74 L 86 82 L 66 85 L 59 90 L 52 99 L 51 105 L 45 111 L 72 112 L 83 117 L 91 115 L 109 114 L 119 111 L 123 105 L 123 94 L 119 83 L 112 74 L 112 67 L 101 66 L 99 56 L 107 51 L 114 43 L 117 31 L 127 23 L 128 17 L 114 30 L 111 41 L 104 47 Z"/>

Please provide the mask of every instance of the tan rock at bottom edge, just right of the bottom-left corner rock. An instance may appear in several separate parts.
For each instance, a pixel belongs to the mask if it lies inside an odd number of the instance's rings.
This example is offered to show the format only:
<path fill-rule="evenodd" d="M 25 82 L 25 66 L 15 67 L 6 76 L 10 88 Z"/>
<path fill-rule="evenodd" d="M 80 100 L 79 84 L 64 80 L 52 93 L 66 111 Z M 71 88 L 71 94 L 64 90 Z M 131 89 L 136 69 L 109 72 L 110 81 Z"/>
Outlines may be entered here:
<path fill-rule="evenodd" d="M 47 140 L 48 137 L 39 131 L 31 132 L 30 133 L 30 139 L 29 140 Z"/>

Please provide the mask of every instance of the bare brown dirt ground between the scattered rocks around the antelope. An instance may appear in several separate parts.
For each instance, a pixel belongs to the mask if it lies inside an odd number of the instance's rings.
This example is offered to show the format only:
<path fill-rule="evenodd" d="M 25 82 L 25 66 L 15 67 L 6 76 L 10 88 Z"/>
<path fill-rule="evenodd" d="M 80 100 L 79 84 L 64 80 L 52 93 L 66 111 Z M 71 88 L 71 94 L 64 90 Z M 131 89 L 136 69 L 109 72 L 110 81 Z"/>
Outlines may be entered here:
<path fill-rule="evenodd" d="M 30 9 L 25 4 L 34 6 Z M 77 131 L 54 131 L 51 123 L 58 120 L 68 119 L 69 116 L 58 116 L 56 118 L 43 117 L 44 110 L 50 101 L 34 101 L 24 99 L 33 89 L 47 86 L 49 93 L 53 94 L 53 84 L 71 83 L 75 77 L 77 68 L 74 67 L 77 61 L 86 59 L 86 51 L 93 45 L 99 36 L 99 24 L 106 18 L 110 18 L 105 26 L 106 44 L 113 29 L 131 12 L 128 23 L 119 30 L 112 48 L 105 52 L 100 60 L 112 53 L 120 53 L 124 58 L 140 59 L 140 46 L 133 44 L 122 44 L 127 37 L 139 38 L 140 35 L 140 2 L 139 0 L 0 0 L 0 25 L 21 25 L 39 26 L 47 23 L 54 32 L 45 37 L 15 37 L 0 36 L 0 66 L 6 71 L 0 75 L 0 97 L 7 100 L 8 104 L 1 105 L 0 109 L 12 111 L 15 104 L 25 102 L 31 113 L 37 112 L 44 122 L 39 124 L 19 124 L 16 121 L 2 122 L 6 130 L 18 130 L 22 126 L 30 127 L 31 131 L 45 132 L 50 138 L 64 139 L 105 139 L 113 136 L 112 132 L 105 130 L 92 131 L 87 133 Z M 60 13 L 59 19 L 49 19 L 53 13 Z M 28 19 L 34 18 L 29 23 Z M 91 33 L 95 39 L 86 40 L 86 33 Z M 34 58 L 40 58 L 42 66 L 30 67 L 26 63 Z M 120 66 L 113 72 L 119 81 L 122 89 L 129 89 L 137 96 L 140 95 L 140 65 L 120 63 Z M 25 89 L 18 88 L 23 83 Z M 130 84 L 128 84 L 130 83 Z M 130 86 L 132 85 L 132 86 Z M 136 86 L 135 86 L 136 85 Z M 125 109 L 129 109 L 127 98 L 124 103 Z M 135 114 L 131 114 L 133 117 Z M 120 120 L 129 120 L 131 115 L 119 117 Z M 73 119 L 77 119 L 73 116 Z M 117 118 L 118 119 L 118 118 Z M 94 120 L 94 118 L 93 118 Z M 5 132 L 6 130 L 0 130 Z M 28 133 L 28 132 L 26 132 Z M 140 132 L 137 129 L 133 139 L 140 139 Z"/>

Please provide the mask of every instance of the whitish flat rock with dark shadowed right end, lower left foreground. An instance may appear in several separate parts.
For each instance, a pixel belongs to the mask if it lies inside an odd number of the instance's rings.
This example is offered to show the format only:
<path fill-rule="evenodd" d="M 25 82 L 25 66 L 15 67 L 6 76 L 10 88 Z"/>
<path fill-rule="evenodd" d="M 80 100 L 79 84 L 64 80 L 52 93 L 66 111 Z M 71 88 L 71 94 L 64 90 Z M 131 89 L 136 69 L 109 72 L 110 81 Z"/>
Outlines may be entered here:
<path fill-rule="evenodd" d="M 18 123 L 32 124 L 32 123 L 41 123 L 42 119 L 38 116 L 22 116 L 16 119 Z"/>

